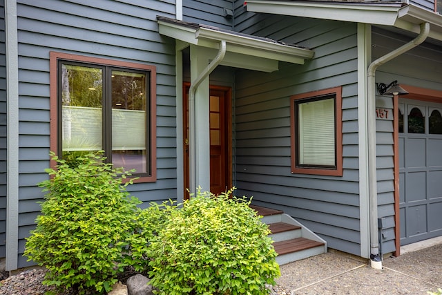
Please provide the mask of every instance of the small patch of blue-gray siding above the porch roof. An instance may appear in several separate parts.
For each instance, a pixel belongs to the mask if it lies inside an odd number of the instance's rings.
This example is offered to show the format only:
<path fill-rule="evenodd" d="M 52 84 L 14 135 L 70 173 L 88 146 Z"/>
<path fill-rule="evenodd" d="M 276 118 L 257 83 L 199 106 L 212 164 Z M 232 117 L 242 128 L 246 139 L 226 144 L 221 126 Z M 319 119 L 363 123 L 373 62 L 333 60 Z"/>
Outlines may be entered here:
<path fill-rule="evenodd" d="M 183 20 L 232 30 L 233 17 L 224 17 L 224 8 L 233 12 L 233 0 L 183 0 Z"/>

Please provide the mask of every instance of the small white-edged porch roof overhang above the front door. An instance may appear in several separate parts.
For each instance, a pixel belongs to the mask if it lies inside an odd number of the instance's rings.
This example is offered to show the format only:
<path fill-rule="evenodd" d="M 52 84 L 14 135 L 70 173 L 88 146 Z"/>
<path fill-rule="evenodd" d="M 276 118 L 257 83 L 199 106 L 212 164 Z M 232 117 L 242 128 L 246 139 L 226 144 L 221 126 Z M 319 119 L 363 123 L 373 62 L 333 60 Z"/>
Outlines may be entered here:
<path fill-rule="evenodd" d="M 157 17 L 161 35 L 205 48 L 218 49 L 220 41 L 226 41 L 227 53 L 222 64 L 273 72 L 278 61 L 304 64 L 314 51 L 268 38 L 261 38 L 229 30 L 222 30 L 197 23 L 186 23 L 166 17 Z"/>

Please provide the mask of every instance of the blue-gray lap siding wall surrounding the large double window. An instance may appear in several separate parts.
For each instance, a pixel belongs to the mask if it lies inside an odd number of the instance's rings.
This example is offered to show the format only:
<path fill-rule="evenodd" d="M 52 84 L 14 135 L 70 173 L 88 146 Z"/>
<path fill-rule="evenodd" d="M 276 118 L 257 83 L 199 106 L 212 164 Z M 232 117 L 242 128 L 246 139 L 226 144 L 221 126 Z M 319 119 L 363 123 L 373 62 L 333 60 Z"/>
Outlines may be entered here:
<path fill-rule="evenodd" d="M 128 191 L 144 207 L 176 198 L 175 43 L 158 34 L 157 15 L 175 17 L 175 1 L 18 1 L 19 254 L 44 196 L 36 184 L 48 178 L 50 51 L 157 67 L 157 181 Z"/>

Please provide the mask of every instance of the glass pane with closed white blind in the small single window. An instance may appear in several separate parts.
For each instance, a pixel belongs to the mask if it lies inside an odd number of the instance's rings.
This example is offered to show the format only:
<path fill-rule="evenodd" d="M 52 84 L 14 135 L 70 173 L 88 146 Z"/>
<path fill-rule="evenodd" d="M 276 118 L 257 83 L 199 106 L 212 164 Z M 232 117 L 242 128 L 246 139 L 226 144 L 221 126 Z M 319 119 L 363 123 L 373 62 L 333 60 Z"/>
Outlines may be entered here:
<path fill-rule="evenodd" d="M 298 164 L 335 166 L 334 98 L 298 104 Z"/>

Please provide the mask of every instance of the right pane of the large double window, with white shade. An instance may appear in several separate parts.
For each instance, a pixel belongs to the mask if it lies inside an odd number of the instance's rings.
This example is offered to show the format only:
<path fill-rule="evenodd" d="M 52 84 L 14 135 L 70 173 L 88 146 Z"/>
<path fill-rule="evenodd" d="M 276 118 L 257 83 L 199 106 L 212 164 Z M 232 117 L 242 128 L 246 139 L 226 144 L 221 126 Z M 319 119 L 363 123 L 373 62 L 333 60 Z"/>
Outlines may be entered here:
<path fill-rule="evenodd" d="M 112 71 L 112 162 L 147 173 L 146 74 Z"/>

